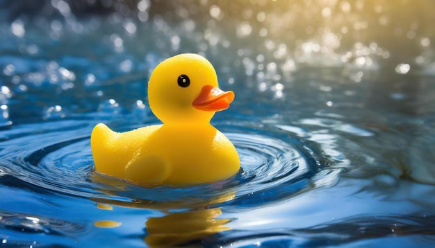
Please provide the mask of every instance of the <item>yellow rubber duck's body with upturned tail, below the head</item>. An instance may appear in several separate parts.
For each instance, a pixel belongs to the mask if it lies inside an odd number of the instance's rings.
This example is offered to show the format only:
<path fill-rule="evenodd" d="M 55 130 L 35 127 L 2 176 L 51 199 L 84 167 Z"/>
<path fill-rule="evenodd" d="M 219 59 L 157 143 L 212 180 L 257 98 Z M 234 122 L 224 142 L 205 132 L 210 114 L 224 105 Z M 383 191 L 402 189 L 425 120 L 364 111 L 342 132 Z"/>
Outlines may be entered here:
<path fill-rule="evenodd" d="M 239 168 L 236 148 L 212 125 L 117 133 L 99 124 L 91 142 L 99 144 L 92 150 L 97 171 L 141 185 L 202 184 L 227 179 Z"/>

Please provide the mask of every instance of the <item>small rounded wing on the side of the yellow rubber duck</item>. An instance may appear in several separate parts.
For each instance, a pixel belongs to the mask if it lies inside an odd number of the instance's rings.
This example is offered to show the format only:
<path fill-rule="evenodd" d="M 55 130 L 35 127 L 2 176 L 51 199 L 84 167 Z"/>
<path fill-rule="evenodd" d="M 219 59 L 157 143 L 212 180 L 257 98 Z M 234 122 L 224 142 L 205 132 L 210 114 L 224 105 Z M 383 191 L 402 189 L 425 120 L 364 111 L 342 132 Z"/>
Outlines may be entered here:
<path fill-rule="evenodd" d="M 170 175 L 170 166 L 157 155 L 139 155 L 126 166 L 125 175 L 135 184 L 159 185 Z"/>

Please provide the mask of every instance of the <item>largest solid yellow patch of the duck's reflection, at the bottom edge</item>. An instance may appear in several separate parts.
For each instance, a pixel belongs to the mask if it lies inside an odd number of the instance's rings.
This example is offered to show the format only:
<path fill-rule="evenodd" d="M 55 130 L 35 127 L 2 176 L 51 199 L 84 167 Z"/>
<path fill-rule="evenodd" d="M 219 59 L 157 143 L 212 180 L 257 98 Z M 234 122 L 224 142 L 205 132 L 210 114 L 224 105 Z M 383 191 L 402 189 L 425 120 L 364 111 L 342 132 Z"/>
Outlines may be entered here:
<path fill-rule="evenodd" d="M 230 219 L 218 219 L 220 208 L 169 213 L 159 218 L 149 218 L 145 242 L 150 247 L 174 247 L 227 231 L 224 224 Z"/>

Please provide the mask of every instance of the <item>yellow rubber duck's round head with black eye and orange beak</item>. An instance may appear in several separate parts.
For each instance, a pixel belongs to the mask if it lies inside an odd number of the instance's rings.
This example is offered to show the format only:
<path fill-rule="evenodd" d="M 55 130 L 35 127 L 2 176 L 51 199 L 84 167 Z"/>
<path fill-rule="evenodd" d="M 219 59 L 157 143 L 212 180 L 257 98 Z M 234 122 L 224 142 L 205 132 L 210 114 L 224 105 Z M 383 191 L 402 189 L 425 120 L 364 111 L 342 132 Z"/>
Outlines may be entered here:
<path fill-rule="evenodd" d="M 229 107 L 234 94 L 218 88 L 215 69 L 206 58 L 186 53 L 158 64 L 149 78 L 148 98 L 163 123 L 208 123 L 215 112 Z"/>

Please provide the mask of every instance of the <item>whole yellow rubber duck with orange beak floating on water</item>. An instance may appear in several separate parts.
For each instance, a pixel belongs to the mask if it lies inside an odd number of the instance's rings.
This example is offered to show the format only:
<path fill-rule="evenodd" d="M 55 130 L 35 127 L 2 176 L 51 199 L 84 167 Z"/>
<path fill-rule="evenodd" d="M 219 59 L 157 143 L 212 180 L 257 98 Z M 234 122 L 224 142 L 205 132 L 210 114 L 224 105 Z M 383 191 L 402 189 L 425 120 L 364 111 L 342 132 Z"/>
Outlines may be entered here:
<path fill-rule="evenodd" d="M 148 98 L 162 125 L 122 133 L 103 123 L 94 127 L 90 145 L 97 172 L 142 186 L 204 184 L 238 172 L 236 148 L 210 124 L 234 93 L 218 88 L 206 58 L 186 53 L 158 64 L 149 78 Z"/>

